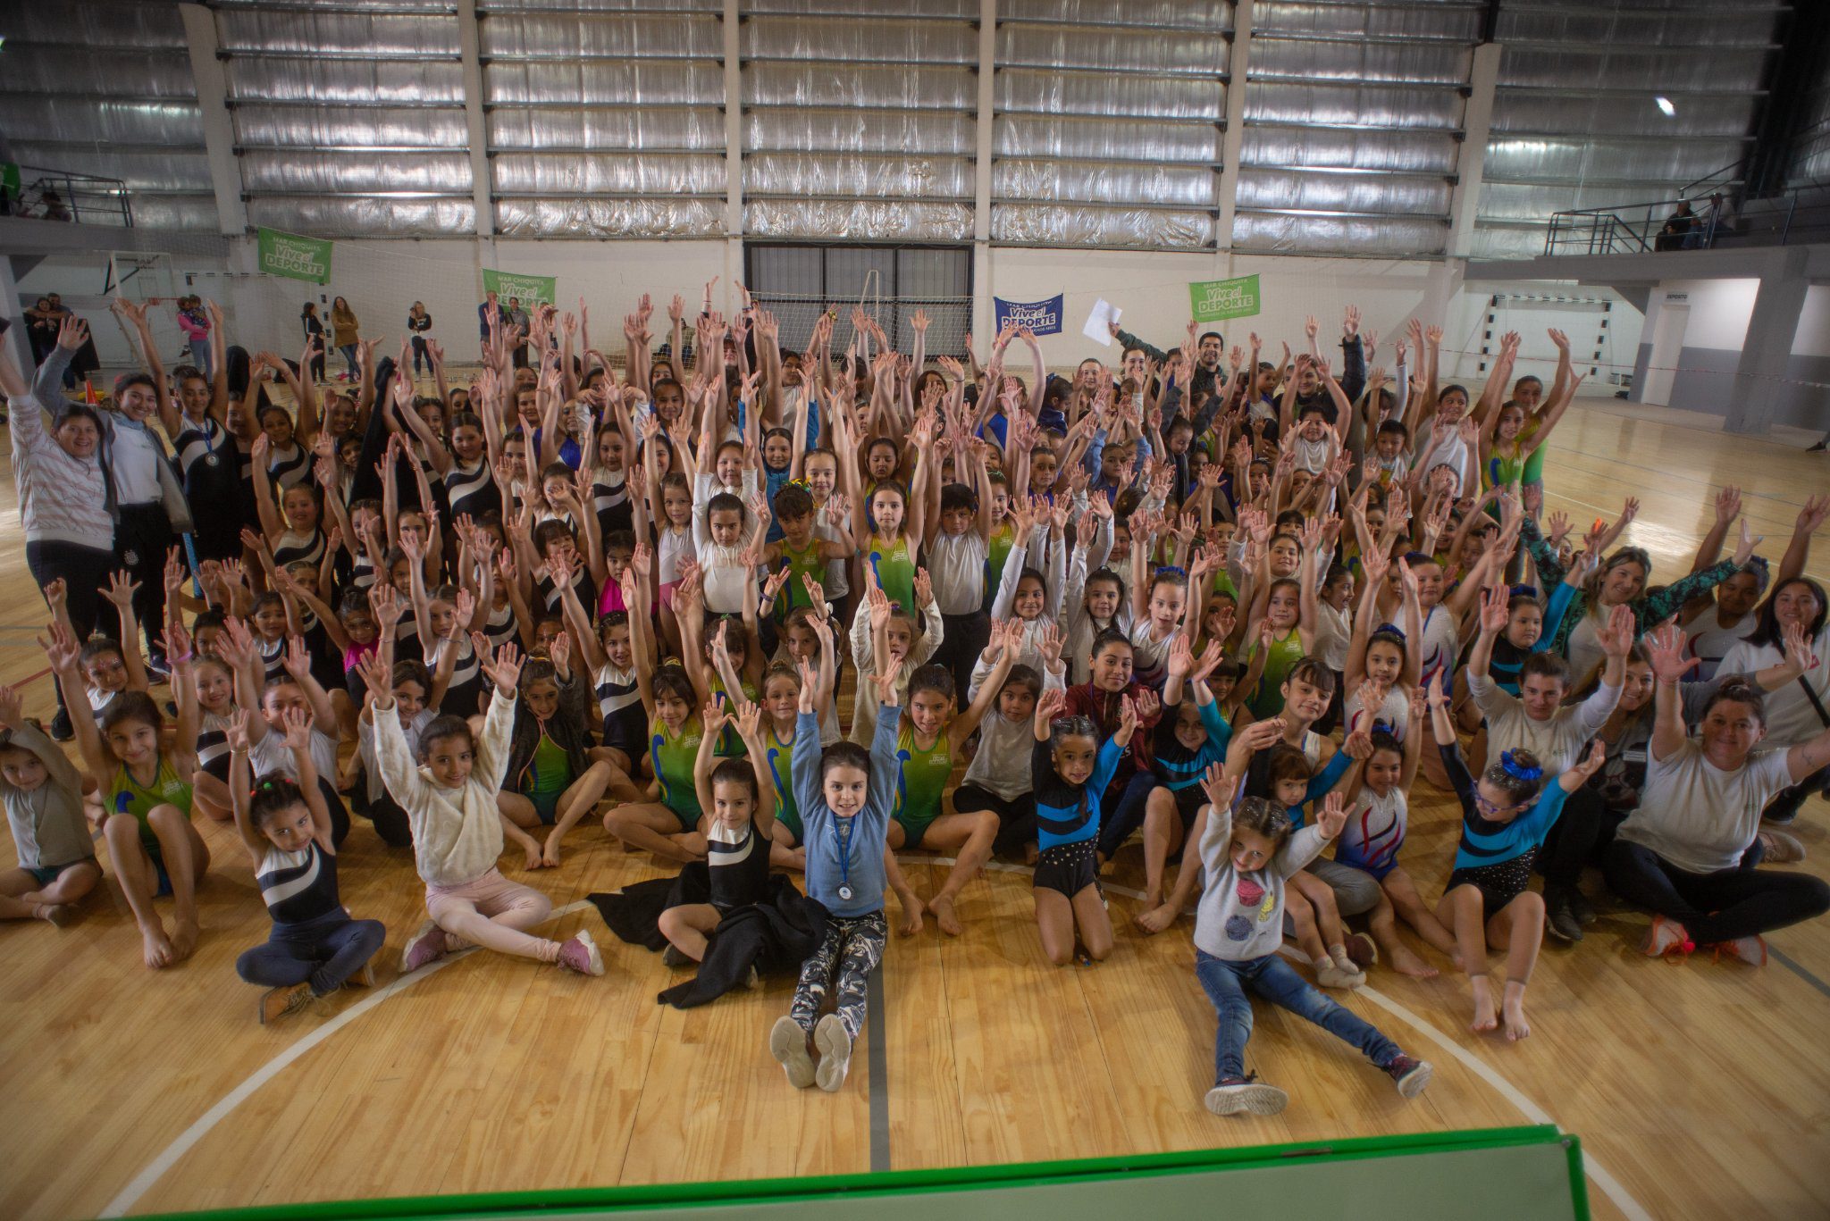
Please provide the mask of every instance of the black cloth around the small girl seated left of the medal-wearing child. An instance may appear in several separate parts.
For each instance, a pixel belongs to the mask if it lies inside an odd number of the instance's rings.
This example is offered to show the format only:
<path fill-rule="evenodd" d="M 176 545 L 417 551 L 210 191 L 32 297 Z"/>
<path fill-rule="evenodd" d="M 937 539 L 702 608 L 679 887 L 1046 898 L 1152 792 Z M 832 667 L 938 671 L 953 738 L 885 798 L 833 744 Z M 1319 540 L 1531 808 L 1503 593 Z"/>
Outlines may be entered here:
<path fill-rule="evenodd" d="M 712 877 L 703 862 L 688 864 L 679 877 L 657 877 L 624 886 L 617 893 L 586 895 L 609 932 L 630 945 L 662 950 L 661 913 L 686 902 L 712 901 Z M 692 1009 L 741 989 L 750 967 L 761 976 L 798 974 L 800 965 L 825 935 L 825 906 L 794 888 L 783 873 L 769 879 L 763 902 L 732 908 L 708 937 L 705 961 L 694 979 L 657 996 L 657 1003 Z"/>

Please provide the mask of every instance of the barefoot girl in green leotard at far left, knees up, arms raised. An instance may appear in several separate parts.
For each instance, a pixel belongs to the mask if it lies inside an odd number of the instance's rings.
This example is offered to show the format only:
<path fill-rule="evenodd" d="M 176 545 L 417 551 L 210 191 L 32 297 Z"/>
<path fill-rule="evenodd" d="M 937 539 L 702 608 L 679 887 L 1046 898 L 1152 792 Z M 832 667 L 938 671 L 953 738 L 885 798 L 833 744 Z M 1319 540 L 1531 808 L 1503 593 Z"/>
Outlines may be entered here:
<path fill-rule="evenodd" d="M 38 639 L 66 703 L 81 708 L 81 646 L 68 624 L 53 622 Z M 139 924 L 146 967 L 161 968 L 190 957 L 198 945 L 198 881 L 210 868 L 210 849 L 190 826 L 190 774 L 198 771 L 198 696 L 190 635 L 168 624 L 167 659 L 172 663 L 172 699 L 178 732 L 170 751 L 159 747 L 165 718 L 146 692 L 121 692 L 102 714 L 70 718 L 90 780 L 101 791 L 108 822 L 108 857 L 121 893 Z M 152 901 L 172 895 L 176 928 L 170 935 Z"/>

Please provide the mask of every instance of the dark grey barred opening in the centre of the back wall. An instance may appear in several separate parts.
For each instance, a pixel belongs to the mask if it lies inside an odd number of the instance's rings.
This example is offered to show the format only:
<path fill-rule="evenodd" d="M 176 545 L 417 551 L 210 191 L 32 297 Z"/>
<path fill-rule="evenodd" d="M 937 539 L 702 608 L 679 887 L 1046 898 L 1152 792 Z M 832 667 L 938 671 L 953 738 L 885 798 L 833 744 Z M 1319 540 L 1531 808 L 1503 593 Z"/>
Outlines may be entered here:
<path fill-rule="evenodd" d="M 928 315 L 928 355 L 964 355 L 972 328 L 972 247 L 792 245 L 748 242 L 743 282 L 776 315 L 781 346 L 803 351 L 818 317 L 833 309 L 833 350 L 851 344 L 853 309 L 877 320 L 897 351 L 915 344 L 915 313 Z"/>

